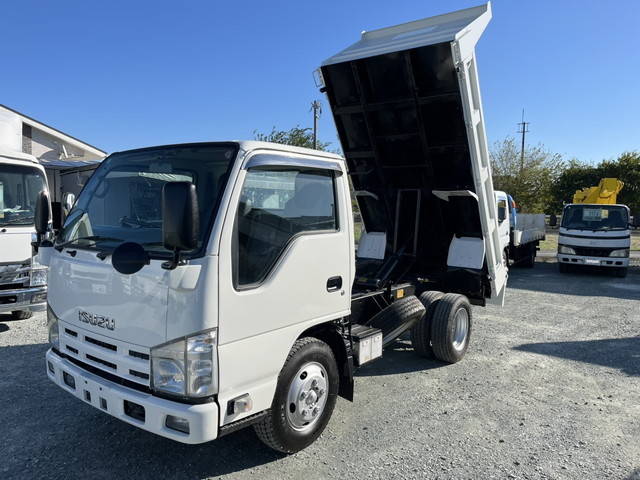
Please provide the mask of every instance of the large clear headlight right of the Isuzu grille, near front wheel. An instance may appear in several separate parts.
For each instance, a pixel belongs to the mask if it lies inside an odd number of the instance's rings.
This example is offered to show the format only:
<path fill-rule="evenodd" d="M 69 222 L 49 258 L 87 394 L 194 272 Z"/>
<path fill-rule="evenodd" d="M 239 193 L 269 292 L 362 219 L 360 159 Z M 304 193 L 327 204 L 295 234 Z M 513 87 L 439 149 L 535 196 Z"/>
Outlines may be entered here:
<path fill-rule="evenodd" d="M 151 349 L 152 388 L 188 397 L 218 391 L 216 328 Z"/>

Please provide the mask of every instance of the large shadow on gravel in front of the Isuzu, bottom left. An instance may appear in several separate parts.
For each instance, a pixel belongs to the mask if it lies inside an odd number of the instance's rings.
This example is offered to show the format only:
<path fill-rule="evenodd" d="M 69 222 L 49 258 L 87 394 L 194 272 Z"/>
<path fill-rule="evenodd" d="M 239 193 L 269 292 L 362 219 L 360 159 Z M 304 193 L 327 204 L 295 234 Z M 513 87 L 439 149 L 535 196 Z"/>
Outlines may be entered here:
<path fill-rule="evenodd" d="M 110 478 L 206 478 L 284 456 L 264 446 L 251 428 L 184 445 L 130 426 L 51 383 L 47 348 L 0 347 L 0 421 L 12 438 L 0 446 L 2 478 L 104 478 L 105 472 Z"/>

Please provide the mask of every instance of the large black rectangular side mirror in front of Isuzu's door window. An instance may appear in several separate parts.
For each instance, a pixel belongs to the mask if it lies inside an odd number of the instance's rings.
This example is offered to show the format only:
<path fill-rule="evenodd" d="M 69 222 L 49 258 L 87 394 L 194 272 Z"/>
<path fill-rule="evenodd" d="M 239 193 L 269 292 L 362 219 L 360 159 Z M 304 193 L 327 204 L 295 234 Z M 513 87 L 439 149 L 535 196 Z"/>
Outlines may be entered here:
<path fill-rule="evenodd" d="M 198 246 L 200 213 L 196 186 L 191 182 L 169 182 L 162 188 L 162 241 L 174 252 L 162 268 L 173 270 L 180 264 L 180 252 Z"/>

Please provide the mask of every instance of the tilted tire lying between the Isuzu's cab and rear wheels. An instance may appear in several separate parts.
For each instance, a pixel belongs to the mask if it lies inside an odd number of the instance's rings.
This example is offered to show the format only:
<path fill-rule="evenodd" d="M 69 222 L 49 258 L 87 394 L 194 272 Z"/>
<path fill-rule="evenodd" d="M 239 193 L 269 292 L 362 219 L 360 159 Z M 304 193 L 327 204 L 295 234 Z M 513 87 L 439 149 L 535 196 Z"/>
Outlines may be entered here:
<path fill-rule="evenodd" d="M 425 311 L 420 300 L 415 295 L 410 295 L 396 300 L 375 314 L 367 325 L 382 330 L 382 346 L 385 347 L 413 327 L 424 316 Z"/>

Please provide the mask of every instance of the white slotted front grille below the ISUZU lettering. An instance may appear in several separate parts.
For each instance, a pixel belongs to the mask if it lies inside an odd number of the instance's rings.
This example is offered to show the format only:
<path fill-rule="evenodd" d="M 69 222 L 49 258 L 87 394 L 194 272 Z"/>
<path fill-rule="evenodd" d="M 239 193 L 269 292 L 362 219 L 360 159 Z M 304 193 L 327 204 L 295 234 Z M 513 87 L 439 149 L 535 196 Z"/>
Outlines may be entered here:
<path fill-rule="evenodd" d="M 61 321 L 60 349 L 68 357 L 89 364 L 93 369 L 129 383 L 149 386 L 149 350 L 145 352 L 144 347 Z"/>

